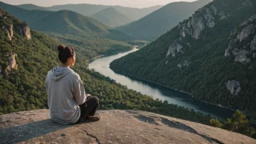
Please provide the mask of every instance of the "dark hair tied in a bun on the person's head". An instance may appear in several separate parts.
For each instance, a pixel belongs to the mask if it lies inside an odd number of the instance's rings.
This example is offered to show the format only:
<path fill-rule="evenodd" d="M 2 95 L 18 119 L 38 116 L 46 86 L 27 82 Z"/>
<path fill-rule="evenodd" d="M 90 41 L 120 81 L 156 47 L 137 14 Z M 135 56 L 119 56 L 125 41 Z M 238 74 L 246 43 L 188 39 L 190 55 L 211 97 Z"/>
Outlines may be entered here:
<path fill-rule="evenodd" d="M 57 47 L 57 50 L 59 51 L 58 57 L 61 63 L 67 63 L 68 58 L 75 55 L 75 50 L 73 47 L 65 47 L 63 44 L 60 44 Z"/>

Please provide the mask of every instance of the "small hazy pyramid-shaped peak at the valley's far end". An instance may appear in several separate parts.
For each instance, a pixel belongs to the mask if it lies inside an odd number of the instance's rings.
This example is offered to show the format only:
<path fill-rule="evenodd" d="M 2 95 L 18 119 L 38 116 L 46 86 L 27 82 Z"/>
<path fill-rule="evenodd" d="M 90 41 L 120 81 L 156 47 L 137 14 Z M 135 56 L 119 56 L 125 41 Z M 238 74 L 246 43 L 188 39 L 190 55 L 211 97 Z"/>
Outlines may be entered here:
<path fill-rule="evenodd" d="M 91 17 L 95 18 L 95 20 L 98 20 L 100 23 L 103 23 L 111 27 L 126 25 L 133 21 L 126 15 L 123 15 L 122 13 L 118 12 L 113 7 L 103 9 L 102 11 L 98 12 L 95 15 L 92 15 Z"/>

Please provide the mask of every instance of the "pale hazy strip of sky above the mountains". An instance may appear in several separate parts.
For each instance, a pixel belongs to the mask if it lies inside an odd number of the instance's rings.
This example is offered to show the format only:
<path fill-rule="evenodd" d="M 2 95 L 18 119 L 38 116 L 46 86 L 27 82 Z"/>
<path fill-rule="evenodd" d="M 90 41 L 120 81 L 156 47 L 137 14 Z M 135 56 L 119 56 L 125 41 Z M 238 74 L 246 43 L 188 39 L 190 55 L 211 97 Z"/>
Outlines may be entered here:
<path fill-rule="evenodd" d="M 0 0 L 7 4 L 36 4 L 49 7 L 60 4 L 103 4 L 120 5 L 124 7 L 151 7 L 165 5 L 174 1 L 196 1 L 196 0 Z"/>

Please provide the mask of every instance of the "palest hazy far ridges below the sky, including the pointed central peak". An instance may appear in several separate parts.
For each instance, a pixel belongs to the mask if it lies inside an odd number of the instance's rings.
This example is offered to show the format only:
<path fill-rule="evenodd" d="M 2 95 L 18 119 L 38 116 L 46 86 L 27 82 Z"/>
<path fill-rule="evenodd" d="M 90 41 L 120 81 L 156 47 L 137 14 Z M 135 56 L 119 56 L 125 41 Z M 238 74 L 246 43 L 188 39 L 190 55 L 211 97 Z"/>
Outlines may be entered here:
<path fill-rule="evenodd" d="M 60 11 L 70 10 L 84 16 L 93 17 L 105 25 L 116 27 L 126 25 L 132 21 L 139 20 L 141 17 L 154 12 L 162 6 L 154 6 L 143 9 L 121 6 L 105 6 L 95 4 L 65 4 L 52 7 L 39 7 L 33 4 L 22 4 L 18 7 L 28 10 Z"/>

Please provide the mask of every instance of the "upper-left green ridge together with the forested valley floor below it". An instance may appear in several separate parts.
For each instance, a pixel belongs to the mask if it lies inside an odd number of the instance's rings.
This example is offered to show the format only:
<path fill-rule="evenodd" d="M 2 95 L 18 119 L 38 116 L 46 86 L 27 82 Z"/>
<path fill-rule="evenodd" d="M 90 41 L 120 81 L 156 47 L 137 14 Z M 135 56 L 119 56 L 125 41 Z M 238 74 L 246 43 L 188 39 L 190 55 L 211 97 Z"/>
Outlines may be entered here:
<path fill-rule="evenodd" d="M 64 44 L 76 47 L 79 54 L 87 59 L 132 49 L 131 45 L 123 42 L 132 40 L 130 36 L 76 12 L 25 10 L 2 2 L 0 7 L 27 22 L 31 29 L 47 33 Z"/>

